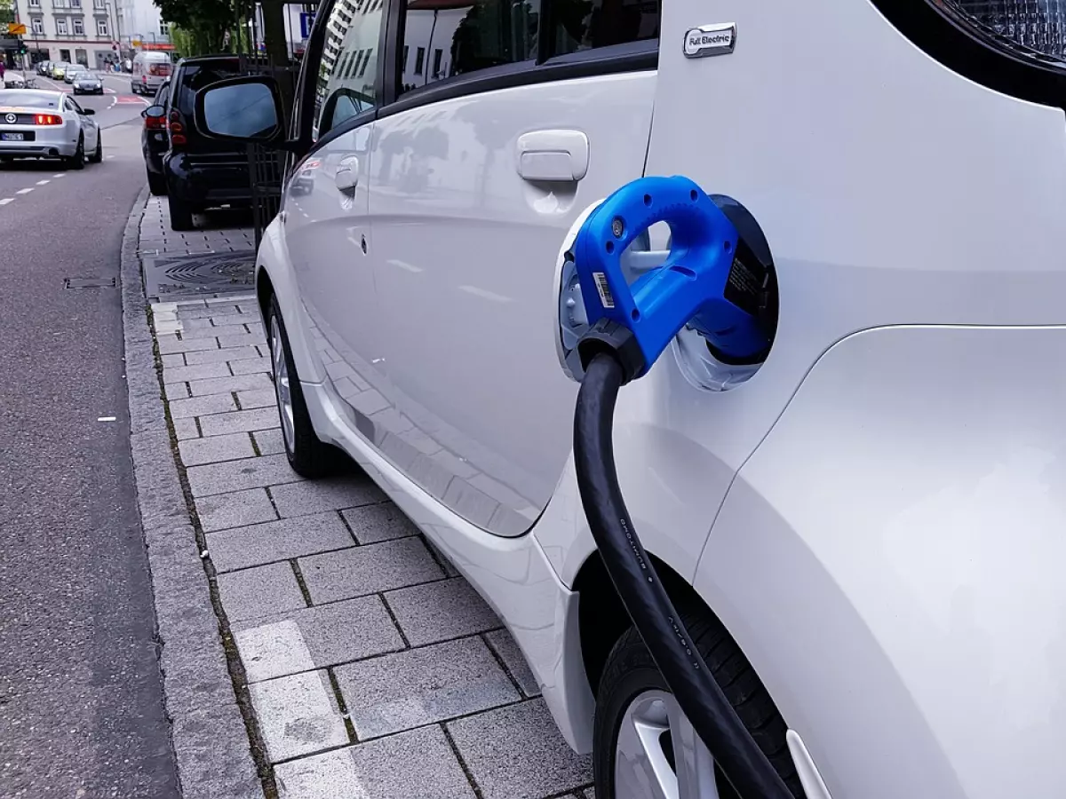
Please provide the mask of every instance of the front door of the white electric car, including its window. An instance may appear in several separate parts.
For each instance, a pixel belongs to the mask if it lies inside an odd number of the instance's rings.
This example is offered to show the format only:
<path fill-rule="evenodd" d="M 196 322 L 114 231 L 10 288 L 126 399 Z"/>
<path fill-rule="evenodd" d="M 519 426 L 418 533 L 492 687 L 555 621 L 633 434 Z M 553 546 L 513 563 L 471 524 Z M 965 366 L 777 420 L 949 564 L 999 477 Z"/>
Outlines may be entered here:
<path fill-rule="evenodd" d="M 367 390 L 377 382 L 373 361 L 381 340 L 368 256 L 367 178 L 382 3 L 336 0 L 322 22 L 321 61 L 308 64 L 304 78 L 317 81 L 314 101 L 298 123 L 310 127 L 314 145 L 291 168 L 284 230 L 330 385 L 345 403 L 367 409 L 375 402 Z"/>

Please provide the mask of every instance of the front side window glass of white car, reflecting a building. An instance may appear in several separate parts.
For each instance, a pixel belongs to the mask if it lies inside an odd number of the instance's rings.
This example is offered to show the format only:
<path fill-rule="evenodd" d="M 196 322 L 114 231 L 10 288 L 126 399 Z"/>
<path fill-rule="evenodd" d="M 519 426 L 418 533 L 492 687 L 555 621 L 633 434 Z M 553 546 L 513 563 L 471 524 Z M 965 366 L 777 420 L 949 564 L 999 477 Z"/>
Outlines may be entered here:
<path fill-rule="evenodd" d="M 338 0 L 330 11 L 314 93 L 313 138 L 377 104 L 382 6 L 381 0 Z"/>

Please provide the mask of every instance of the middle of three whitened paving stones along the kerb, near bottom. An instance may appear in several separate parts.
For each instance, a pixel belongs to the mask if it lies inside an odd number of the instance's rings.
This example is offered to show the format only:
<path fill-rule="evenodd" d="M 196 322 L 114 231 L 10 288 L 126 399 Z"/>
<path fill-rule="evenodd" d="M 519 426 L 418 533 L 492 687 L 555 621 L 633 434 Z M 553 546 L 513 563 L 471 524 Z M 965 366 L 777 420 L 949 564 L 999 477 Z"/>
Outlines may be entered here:
<path fill-rule="evenodd" d="M 349 743 L 324 671 L 253 683 L 248 692 L 272 763 Z"/>

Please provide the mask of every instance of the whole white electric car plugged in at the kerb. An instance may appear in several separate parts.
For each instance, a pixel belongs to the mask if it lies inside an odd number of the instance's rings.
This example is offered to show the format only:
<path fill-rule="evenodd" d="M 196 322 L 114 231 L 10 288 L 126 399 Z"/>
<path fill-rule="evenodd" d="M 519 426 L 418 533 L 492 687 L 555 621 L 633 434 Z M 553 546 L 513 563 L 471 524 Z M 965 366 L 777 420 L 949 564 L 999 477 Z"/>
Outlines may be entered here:
<path fill-rule="evenodd" d="M 293 153 L 257 279 L 290 462 L 343 450 L 448 553 L 600 799 L 736 796 L 570 454 L 560 254 L 642 175 L 743 203 L 776 271 L 761 364 L 685 331 L 615 423 L 741 719 L 797 797 L 1063 795 L 1064 45 L 1057 0 L 324 0 L 286 141 L 269 78 L 203 93 Z"/>

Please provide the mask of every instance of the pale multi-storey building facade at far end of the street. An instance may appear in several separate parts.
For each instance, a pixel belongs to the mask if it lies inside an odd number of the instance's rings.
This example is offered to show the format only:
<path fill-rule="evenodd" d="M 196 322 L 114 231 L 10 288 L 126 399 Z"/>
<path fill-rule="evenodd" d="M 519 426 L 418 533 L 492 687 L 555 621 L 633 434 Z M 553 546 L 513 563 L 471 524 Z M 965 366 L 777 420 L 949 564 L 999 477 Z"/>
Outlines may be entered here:
<path fill-rule="evenodd" d="M 140 49 L 171 49 L 151 0 L 15 0 L 31 64 L 65 61 L 107 69 Z"/>

